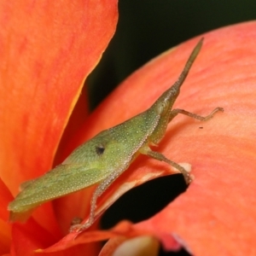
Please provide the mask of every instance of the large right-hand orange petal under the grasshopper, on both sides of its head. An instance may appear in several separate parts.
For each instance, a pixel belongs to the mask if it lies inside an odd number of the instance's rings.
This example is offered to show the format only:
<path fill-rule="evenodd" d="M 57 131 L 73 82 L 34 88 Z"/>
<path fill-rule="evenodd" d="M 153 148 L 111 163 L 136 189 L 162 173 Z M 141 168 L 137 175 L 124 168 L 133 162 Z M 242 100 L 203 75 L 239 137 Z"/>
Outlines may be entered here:
<path fill-rule="evenodd" d="M 256 236 L 253 192 L 256 22 L 228 26 L 204 37 L 201 53 L 183 84 L 175 108 L 207 115 L 213 108 L 223 107 L 224 113 L 217 113 L 205 123 L 182 115 L 172 121 L 157 150 L 176 162 L 189 162 L 195 181 L 164 211 L 137 227 L 154 234 L 167 234 L 169 240 L 161 239 L 167 249 L 174 248 L 170 236 L 173 234 L 195 255 L 237 251 L 253 255 L 256 253 L 251 246 Z M 166 52 L 125 80 L 97 108 L 76 143 L 148 108 L 177 79 L 197 41 L 198 38 L 193 39 Z M 109 199 L 120 184 L 132 182 L 136 177 L 142 180 L 148 173 L 166 168 L 155 160 L 140 158 L 113 183 L 106 195 Z M 102 198 L 98 207 L 104 203 Z M 81 236 L 90 236 L 90 232 Z"/>

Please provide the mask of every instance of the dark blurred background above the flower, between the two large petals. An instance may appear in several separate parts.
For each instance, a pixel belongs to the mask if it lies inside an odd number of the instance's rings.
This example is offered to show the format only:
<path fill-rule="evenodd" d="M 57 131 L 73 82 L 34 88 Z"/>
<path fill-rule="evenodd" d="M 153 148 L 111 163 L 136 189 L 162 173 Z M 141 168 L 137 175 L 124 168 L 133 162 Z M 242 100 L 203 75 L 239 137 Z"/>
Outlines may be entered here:
<path fill-rule="evenodd" d="M 189 38 L 256 19 L 254 0 L 119 0 L 117 30 L 86 81 L 90 109 L 138 67 Z"/>

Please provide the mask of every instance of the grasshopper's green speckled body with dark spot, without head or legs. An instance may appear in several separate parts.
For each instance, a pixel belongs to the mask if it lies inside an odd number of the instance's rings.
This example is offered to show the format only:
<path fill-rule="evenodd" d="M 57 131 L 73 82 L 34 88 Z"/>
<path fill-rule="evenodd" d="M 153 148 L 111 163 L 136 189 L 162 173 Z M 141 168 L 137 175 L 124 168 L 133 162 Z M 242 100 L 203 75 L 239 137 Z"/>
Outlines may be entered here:
<path fill-rule="evenodd" d="M 100 183 L 114 172 L 125 171 L 139 148 L 150 141 L 159 119 L 154 104 L 148 111 L 100 132 L 76 148 L 60 166 L 21 185 L 23 188 L 15 201 L 9 204 L 9 210 L 26 212 L 45 201 Z M 166 127 L 167 124 L 166 120 L 161 125 Z M 159 140 L 154 138 L 153 143 Z"/>

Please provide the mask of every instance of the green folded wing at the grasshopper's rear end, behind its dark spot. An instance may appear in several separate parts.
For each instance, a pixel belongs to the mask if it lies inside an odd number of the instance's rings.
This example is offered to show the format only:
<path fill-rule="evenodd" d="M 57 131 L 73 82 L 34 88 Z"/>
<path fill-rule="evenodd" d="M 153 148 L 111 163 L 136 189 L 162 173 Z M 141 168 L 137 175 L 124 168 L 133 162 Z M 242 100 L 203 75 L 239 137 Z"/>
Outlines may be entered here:
<path fill-rule="evenodd" d="M 9 203 L 10 221 L 26 221 L 32 211 L 46 201 L 51 201 L 100 183 L 108 174 L 101 168 L 83 164 L 60 165 L 22 185 L 20 194 Z"/>

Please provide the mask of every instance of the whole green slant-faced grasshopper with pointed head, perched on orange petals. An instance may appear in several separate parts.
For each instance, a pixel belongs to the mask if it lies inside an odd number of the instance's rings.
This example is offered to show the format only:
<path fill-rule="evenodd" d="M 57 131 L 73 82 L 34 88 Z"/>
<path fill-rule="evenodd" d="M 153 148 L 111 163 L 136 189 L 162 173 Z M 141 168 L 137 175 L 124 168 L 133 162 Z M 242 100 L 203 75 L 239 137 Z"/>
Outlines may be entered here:
<path fill-rule="evenodd" d="M 76 148 L 66 160 L 41 177 L 22 183 L 20 194 L 9 203 L 10 220 L 25 221 L 32 211 L 46 201 L 68 195 L 80 189 L 98 184 L 90 201 L 90 216 L 85 224 L 76 224 L 77 232 L 90 227 L 96 216 L 96 201 L 113 181 L 130 166 L 139 154 L 146 154 L 155 160 L 164 161 L 183 174 L 186 183 L 192 181 L 189 172 L 182 166 L 151 150 L 165 136 L 169 122 L 183 113 L 191 118 L 206 121 L 223 108 L 215 108 L 206 117 L 183 109 L 172 109 L 179 95 L 180 87 L 189 69 L 199 54 L 203 38 L 189 56 L 179 78 L 166 90 L 151 108 L 108 130 L 102 131 L 88 142 Z"/>

